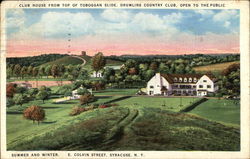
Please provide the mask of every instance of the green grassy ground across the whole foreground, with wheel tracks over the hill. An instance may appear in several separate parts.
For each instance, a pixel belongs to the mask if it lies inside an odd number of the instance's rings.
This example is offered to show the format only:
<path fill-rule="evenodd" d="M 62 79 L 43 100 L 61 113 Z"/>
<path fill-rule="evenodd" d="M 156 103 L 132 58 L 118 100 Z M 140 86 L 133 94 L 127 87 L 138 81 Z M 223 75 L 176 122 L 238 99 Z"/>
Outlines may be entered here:
<path fill-rule="evenodd" d="M 35 100 L 22 107 L 10 107 L 8 150 L 239 150 L 239 127 L 211 121 L 222 121 L 219 117 L 225 112 L 231 120 L 224 117 L 223 122 L 237 123 L 239 114 L 229 113 L 227 109 L 239 111 L 239 107 L 233 109 L 232 101 L 208 100 L 190 112 L 201 116 L 198 117 L 179 111 L 199 98 L 131 96 L 135 91 L 110 89 L 95 93 L 94 103 L 111 102 L 118 106 L 98 108 L 78 116 L 69 116 L 78 100 L 62 104 L 52 103 L 53 99 L 45 104 Z M 221 106 L 225 102 L 230 106 Z M 22 117 L 22 110 L 33 104 L 46 111 L 46 120 L 40 125 Z M 213 112 L 215 104 L 220 108 Z M 209 110 L 213 116 L 206 116 Z"/>

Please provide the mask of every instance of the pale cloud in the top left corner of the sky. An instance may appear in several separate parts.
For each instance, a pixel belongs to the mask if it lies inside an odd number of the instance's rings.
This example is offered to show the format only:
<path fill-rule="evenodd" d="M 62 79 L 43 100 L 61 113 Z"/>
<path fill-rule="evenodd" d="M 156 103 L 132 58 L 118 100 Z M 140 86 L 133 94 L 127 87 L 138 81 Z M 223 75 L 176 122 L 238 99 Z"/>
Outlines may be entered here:
<path fill-rule="evenodd" d="M 6 21 L 8 29 L 19 29 L 25 23 L 25 13 L 22 9 L 9 9 Z"/>

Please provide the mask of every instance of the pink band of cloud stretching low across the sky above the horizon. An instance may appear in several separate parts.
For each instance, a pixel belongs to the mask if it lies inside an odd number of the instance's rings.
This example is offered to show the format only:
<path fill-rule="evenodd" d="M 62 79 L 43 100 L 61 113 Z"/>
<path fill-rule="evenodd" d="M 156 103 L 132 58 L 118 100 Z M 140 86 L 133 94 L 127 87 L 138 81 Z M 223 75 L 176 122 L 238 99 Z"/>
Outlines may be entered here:
<path fill-rule="evenodd" d="M 68 47 L 70 45 L 70 47 Z M 7 41 L 7 57 L 35 56 L 44 53 L 65 54 L 71 51 L 88 55 L 103 52 L 105 55 L 121 54 L 194 54 L 194 53 L 239 53 L 239 36 L 233 34 L 203 36 L 182 34 L 177 37 L 149 35 L 116 35 L 109 37 L 87 36 L 65 40 L 33 39 Z"/>

